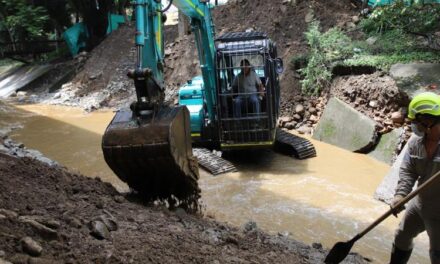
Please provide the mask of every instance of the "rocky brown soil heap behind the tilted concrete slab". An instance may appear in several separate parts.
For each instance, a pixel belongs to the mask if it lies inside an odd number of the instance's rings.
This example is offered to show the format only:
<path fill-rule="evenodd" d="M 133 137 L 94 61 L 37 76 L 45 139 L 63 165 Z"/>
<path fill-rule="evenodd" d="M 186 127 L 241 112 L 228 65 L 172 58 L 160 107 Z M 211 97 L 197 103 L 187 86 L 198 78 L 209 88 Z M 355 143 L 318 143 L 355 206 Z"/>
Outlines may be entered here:
<path fill-rule="evenodd" d="M 300 133 L 312 132 L 331 97 L 341 99 L 376 121 L 379 134 L 405 126 L 409 135 L 408 120 L 405 120 L 405 106 L 409 98 L 399 90 L 391 77 L 382 72 L 338 76 L 319 97 L 296 95 L 293 100 L 283 100 L 284 116 L 280 125 L 288 129 L 296 128 Z"/>

